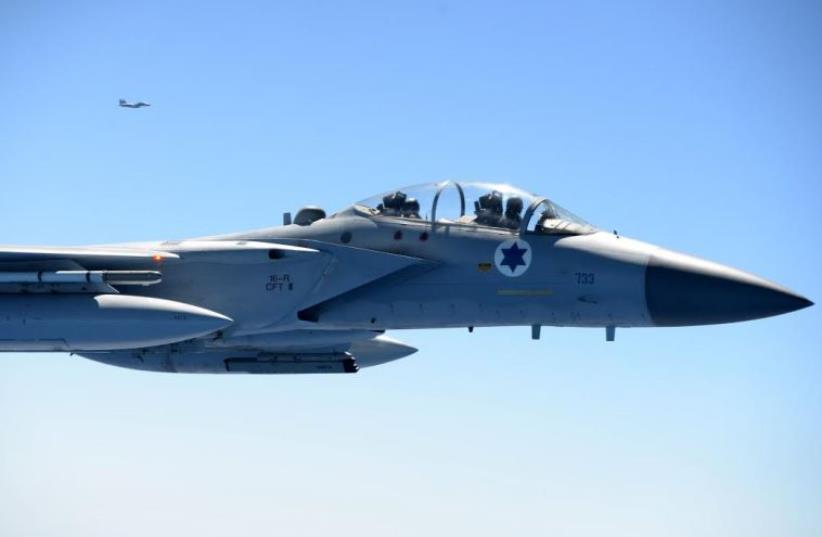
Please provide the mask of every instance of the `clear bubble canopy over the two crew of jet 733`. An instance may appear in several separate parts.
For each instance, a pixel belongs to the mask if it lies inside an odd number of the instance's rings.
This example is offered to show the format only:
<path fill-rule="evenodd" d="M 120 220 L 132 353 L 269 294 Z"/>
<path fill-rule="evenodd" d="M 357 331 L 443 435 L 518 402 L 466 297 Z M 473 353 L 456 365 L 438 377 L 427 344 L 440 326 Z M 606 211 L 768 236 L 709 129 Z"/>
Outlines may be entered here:
<path fill-rule="evenodd" d="M 443 181 L 380 194 L 338 213 L 432 226 L 481 226 L 513 233 L 584 235 L 596 228 L 552 202 L 506 184 Z"/>

